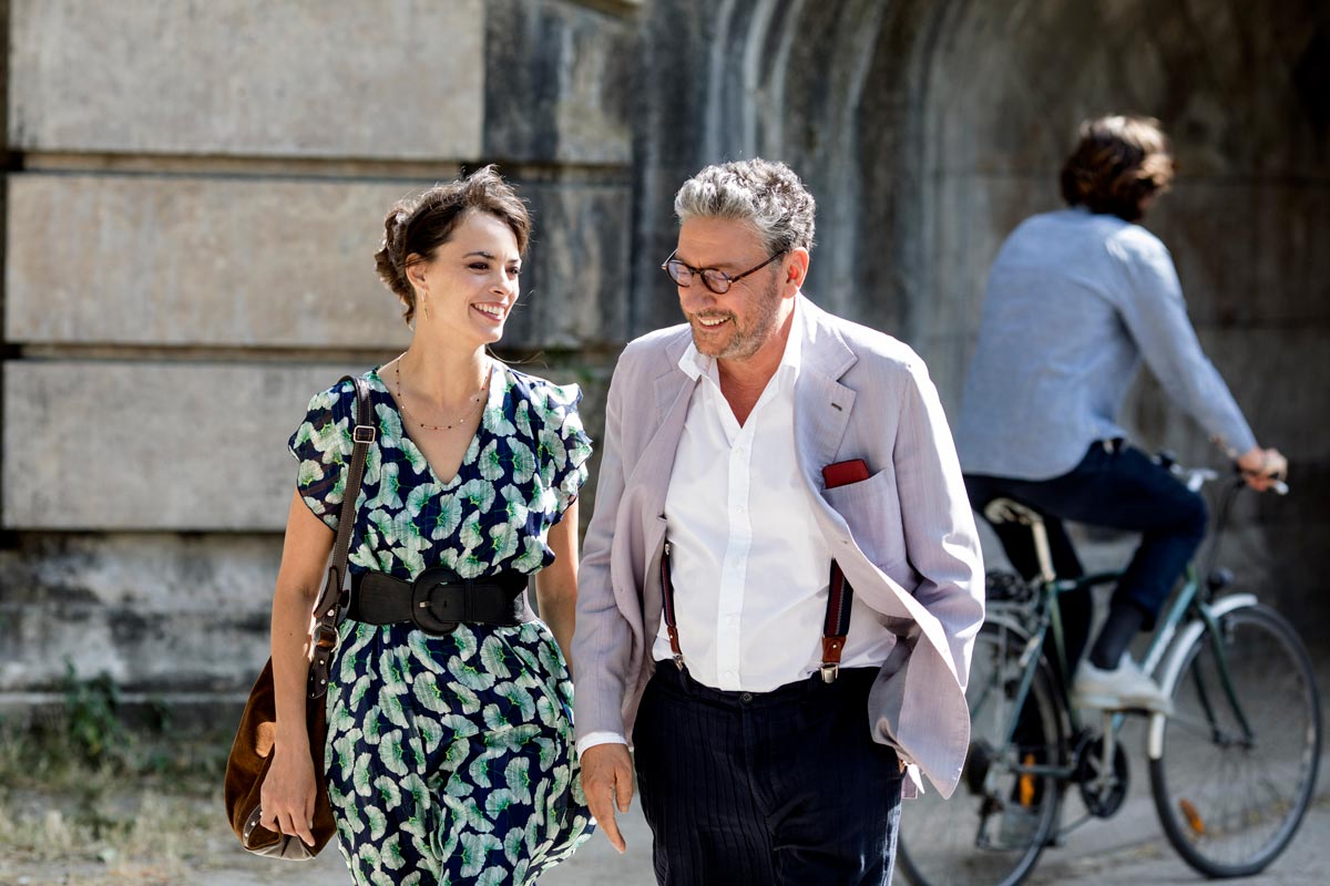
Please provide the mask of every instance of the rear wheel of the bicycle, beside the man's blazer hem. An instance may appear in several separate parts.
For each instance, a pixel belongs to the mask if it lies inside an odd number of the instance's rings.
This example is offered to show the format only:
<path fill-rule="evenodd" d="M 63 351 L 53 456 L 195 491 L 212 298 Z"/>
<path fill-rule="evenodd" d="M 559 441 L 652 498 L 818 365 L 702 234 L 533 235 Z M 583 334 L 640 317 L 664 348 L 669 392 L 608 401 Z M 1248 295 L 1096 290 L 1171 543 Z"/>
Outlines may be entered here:
<path fill-rule="evenodd" d="M 898 854 L 915 886 L 1015 886 L 1048 843 L 1061 785 L 1029 768 L 1063 765 L 1065 739 L 1043 659 L 1024 709 L 1015 709 L 1025 642 L 1023 632 L 992 622 L 975 640 L 960 785 L 951 800 L 926 793 L 900 810 Z"/>

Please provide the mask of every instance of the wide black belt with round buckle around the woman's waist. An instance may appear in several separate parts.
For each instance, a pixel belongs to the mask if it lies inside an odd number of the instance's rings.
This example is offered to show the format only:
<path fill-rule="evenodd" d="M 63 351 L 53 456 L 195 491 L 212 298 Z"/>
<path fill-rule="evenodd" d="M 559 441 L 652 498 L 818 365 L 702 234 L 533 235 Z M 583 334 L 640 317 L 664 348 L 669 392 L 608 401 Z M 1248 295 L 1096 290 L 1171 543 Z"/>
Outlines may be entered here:
<path fill-rule="evenodd" d="M 366 624 L 414 622 L 427 634 L 452 634 L 458 624 L 515 626 L 531 620 L 527 576 L 500 573 L 458 578 L 447 566 L 403 582 L 386 573 L 362 573 L 351 580 L 347 618 Z"/>

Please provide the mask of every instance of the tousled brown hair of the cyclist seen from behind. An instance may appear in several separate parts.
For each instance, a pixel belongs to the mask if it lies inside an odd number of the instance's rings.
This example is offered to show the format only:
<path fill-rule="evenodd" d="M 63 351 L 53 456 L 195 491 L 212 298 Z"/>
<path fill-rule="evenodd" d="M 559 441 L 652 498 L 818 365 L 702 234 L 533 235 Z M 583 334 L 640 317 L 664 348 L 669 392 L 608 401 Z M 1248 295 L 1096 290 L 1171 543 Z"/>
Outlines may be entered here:
<path fill-rule="evenodd" d="M 1153 117 L 1087 120 L 1061 173 L 1063 199 L 1127 222 L 1141 218 L 1141 199 L 1173 182 L 1168 135 Z"/>

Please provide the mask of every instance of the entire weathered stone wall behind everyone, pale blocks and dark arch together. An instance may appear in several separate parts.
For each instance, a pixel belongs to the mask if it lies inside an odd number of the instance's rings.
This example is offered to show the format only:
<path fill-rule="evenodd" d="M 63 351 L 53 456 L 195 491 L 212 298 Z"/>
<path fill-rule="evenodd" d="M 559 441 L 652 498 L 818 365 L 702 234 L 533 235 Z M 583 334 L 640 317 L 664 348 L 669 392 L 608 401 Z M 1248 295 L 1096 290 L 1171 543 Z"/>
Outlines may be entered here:
<path fill-rule="evenodd" d="M 286 436 L 313 391 L 407 341 L 370 260 L 395 198 L 485 162 L 517 182 L 536 232 L 504 353 L 581 381 L 595 434 L 620 345 L 677 317 L 658 270 L 674 190 L 706 162 L 783 158 L 819 201 L 809 292 L 914 345 L 954 410 L 988 263 L 1057 205 L 1076 122 L 1113 109 L 1173 134 L 1181 175 L 1148 223 L 1294 465 L 1287 499 L 1242 502 L 1225 559 L 1303 623 L 1330 618 L 1313 576 L 1330 542 L 1318 0 L 0 12 L 0 700 L 51 691 L 66 658 L 130 691 L 245 688 Z M 1130 416 L 1146 445 L 1216 461 L 1149 381 Z"/>

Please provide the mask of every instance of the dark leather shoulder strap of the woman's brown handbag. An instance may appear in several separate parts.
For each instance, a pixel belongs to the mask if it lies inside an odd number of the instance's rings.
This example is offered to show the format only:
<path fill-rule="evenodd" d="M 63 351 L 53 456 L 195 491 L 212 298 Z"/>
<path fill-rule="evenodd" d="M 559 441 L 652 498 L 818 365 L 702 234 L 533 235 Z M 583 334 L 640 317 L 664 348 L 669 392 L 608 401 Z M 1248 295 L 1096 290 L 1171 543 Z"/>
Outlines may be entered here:
<path fill-rule="evenodd" d="M 332 562 L 329 565 L 323 592 L 314 604 L 313 648 L 310 655 L 309 696 L 322 697 L 329 688 L 329 669 L 332 652 L 336 650 L 336 626 L 346 615 L 348 595 L 346 590 L 346 561 L 351 550 L 351 530 L 355 523 L 355 499 L 360 497 L 360 481 L 364 478 L 364 461 L 370 445 L 378 437 L 370 406 L 370 385 L 364 379 L 342 376 L 338 384 L 350 381 L 355 385 L 355 428 L 351 430 L 351 465 L 347 469 L 346 486 L 342 493 L 342 510 L 338 514 L 336 541 L 332 543 Z"/>

